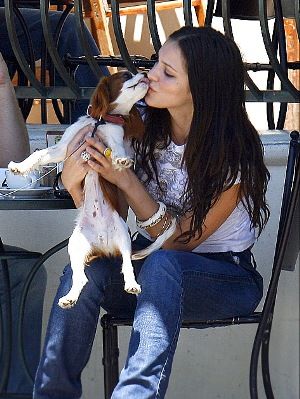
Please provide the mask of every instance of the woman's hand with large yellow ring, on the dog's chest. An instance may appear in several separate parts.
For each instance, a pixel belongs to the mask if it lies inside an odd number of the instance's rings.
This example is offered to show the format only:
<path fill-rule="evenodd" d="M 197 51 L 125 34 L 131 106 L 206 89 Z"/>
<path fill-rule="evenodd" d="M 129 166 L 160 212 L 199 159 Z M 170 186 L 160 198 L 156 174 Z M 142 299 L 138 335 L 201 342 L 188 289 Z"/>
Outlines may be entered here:
<path fill-rule="evenodd" d="M 86 142 L 88 144 L 86 151 L 92 156 L 92 159 L 88 161 L 91 169 L 123 190 L 126 184 L 126 177 L 131 171 L 127 168 L 121 171 L 116 170 L 112 165 L 111 158 L 106 158 L 103 155 L 106 146 L 99 139 L 87 137 Z"/>

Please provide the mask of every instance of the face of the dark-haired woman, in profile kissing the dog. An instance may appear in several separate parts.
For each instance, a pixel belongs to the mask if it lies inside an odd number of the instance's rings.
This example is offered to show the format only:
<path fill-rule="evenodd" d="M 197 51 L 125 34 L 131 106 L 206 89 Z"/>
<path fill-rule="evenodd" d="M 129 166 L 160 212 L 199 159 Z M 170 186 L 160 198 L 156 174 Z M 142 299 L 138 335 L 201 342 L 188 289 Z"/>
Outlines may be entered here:
<path fill-rule="evenodd" d="M 151 107 L 172 109 L 193 107 L 184 58 L 176 42 L 167 41 L 158 62 L 149 71 L 145 102 Z"/>

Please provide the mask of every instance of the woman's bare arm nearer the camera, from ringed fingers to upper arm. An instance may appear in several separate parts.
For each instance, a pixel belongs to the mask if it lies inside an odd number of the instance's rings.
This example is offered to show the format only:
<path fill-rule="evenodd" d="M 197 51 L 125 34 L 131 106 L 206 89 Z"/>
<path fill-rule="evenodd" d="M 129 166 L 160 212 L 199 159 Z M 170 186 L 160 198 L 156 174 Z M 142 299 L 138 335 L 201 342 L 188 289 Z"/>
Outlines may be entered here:
<path fill-rule="evenodd" d="M 154 215 L 159 206 L 145 190 L 143 184 L 139 181 L 134 172 L 130 169 L 115 171 L 111 166 L 111 161 L 102 155 L 105 149 L 103 144 L 92 138 L 88 138 L 87 142 L 90 144 L 90 146 L 87 147 L 86 150 L 94 158 L 94 161 L 91 160 L 88 162 L 91 168 L 100 173 L 111 183 L 116 184 L 119 189 L 123 191 L 128 205 L 131 207 L 139 220 L 147 220 Z M 188 244 L 182 244 L 175 241 L 176 238 L 182 234 L 182 232 L 188 231 L 190 228 L 191 215 L 186 214 L 181 217 L 175 233 L 165 242 L 163 247 L 168 249 L 191 251 L 201 242 L 205 241 L 225 222 L 238 202 L 239 185 L 234 185 L 229 190 L 225 191 L 216 204 L 210 209 L 205 220 L 205 227 L 200 237 L 192 239 Z M 161 220 L 151 229 L 148 229 L 148 233 L 152 237 L 159 235 L 163 228 L 164 222 L 164 219 Z"/>

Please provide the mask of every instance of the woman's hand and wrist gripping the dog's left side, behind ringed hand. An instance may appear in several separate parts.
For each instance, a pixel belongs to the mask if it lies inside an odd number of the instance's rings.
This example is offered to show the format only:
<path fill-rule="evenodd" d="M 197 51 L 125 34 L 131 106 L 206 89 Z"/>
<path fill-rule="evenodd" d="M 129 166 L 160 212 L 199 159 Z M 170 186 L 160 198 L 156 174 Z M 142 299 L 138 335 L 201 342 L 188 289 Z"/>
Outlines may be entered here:
<path fill-rule="evenodd" d="M 90 167 L 80 155 L 86 149 L 86 136 L 93 130 L 92 125 L 80 129 L 73 140 L 68 145 L 67 156 L 69 158 L 64 162 L 61 179 L 66 190 L 72 195 L 76 206 L 82 202 L 82 182 Z M 81 145 L 80 145 L 81 144 Z"/>

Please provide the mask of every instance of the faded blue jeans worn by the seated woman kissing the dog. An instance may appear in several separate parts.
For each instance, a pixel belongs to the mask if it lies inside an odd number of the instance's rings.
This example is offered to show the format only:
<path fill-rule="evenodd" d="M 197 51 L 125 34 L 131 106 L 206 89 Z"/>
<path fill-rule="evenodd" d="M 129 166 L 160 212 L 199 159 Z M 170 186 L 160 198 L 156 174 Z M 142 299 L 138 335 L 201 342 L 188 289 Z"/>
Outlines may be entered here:
<path fill-rule="evenodd" d="M 136 245 L 145 246 L 139 239 Z M 44 351 L 35 380 L 34 399 L 77 399 L 80 376 L 92 348 L 100 307 L 134 316 L 127 361 L 113 399 L 164 398 L 182 320 L 250 314 L 263 292 L 251 265 L 251 252 L 205 254 L 159 250 L 135 263 L 142 293 L 123 290 L 120 260 L 102 259 L 86 268 L 89 282 L 76 306 L 57 305 L 71 286 L 64 270 L 54 300 Z"/>

